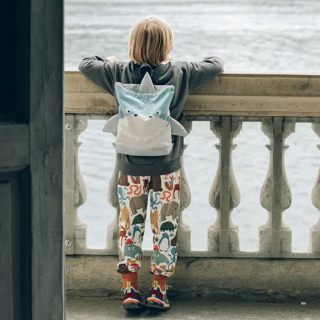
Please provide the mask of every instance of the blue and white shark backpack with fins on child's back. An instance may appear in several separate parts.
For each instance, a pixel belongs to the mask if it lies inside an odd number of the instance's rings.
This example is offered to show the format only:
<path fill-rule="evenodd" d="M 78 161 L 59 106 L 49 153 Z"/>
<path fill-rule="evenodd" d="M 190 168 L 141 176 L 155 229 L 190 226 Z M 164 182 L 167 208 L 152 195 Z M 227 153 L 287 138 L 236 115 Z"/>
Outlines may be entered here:
<path fill-rule="evenodd" d="M 141 84 L 115 82 L 119 113 L 106 121 L 102 131 L 116 133 L 115 151 L 118 153 L 166 155 L 172 149 L 172 135 L 186 136 L 187 133 L 170 116 L 174 86 L 153 85 L 149 74 L 151 67 L 146 64 L 145 69 Z"/>

